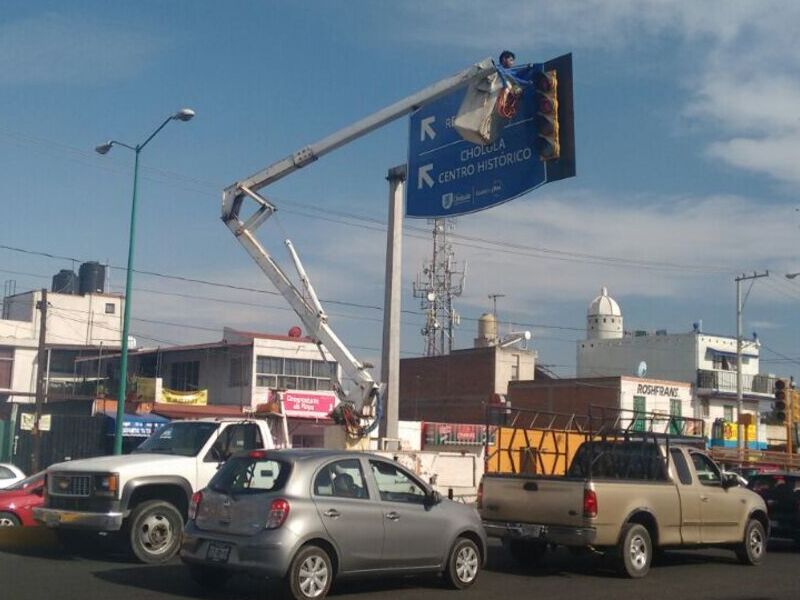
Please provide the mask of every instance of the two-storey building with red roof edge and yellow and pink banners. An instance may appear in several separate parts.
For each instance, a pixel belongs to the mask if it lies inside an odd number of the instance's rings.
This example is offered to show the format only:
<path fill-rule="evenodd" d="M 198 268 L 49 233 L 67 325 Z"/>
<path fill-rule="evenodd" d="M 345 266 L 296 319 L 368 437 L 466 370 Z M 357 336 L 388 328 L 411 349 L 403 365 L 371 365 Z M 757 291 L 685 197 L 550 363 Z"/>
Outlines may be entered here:
<path fill-rule="evenodd" d="M 337 403 L 339 367 L 299 328 L 290 334 L 225 328 L 219 342 L 130 352 L 126 401 L 171 418 L 236 415 L 255 411 L 280 391 L 292 445 L 322 446 L 324 428 L 331 424 L 328 413 Z M 91 380 L 100 364 L 103 389 L 115 396 L 118 354 L 79 362 L 84 380 Z"/>

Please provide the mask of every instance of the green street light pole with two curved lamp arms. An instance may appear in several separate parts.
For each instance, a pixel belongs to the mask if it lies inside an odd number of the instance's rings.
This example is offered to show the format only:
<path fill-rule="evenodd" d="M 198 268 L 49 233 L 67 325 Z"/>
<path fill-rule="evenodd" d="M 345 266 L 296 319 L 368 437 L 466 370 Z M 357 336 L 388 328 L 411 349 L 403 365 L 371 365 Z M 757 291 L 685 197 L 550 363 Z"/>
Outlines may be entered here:
<path fill-rule="evenodd" d="M 153 133 L 141 144 L 130 146 L 117 140 L 109 140 L 105 144 L 101 144 L 95 148 L 98 154 L 107 154 L 113 146 L 122 146 L 134 153 L 133 162 L 133 198 L 131 200 L 131 222 L 130 232 L 128 235 L 128 265 L 125 273 L 125 309 L 122 316 L 122 348 L 120 355 L 119 366 L 119 388 L 117 391 L 117 418 L 114 426 L 114 454 L 122 454 L 122 422 L 125 417 L 125 397 L 128 393 L 128 333 L 130 330 L 131 321 L 131 296 L 133 293 L 133 252 L 136 243 L 136 199 L 137 189 L 139 186 L 139 154 L 144 147 L 150 143 L 159 131 L 166 127 L 167 123 L 172 120 L 189 121 L 194 117 L 195 112 L 190 108 L 182 108 L 174 115 L 167 117 L 161 125 L 159 125 Z"/>

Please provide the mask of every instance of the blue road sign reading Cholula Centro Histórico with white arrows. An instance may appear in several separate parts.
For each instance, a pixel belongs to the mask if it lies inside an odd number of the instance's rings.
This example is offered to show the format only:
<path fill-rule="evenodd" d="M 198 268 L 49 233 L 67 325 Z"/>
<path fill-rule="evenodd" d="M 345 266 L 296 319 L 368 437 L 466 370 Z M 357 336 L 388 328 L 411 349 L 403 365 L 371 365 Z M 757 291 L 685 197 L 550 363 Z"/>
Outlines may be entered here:
<path fill-rule="evenodd" d="M 532 65 L 534 70 L 541 71 L 541 65 Z M 524 87 L 517 114 L 497 141 L 486 146 L 468 142 L 455 128 L 465 94 L 464 89 L 456 90 L 411 115 L 409 217 L 450 217 L 483 210 L 546 182 L 545 164 L 537 150 L 533 86 Z"/>

